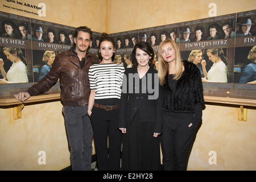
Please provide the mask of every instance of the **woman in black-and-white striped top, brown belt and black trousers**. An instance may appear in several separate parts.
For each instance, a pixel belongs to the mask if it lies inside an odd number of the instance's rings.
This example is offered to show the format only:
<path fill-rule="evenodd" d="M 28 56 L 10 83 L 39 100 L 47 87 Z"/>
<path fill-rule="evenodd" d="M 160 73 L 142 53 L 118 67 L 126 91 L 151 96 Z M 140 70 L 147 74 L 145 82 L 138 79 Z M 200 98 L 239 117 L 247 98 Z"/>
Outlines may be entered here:
<path fill-rule="evenodd" d="M 113 38 L 103 33 L 98 50 L 101 63 L 89 68 L 91 90 L 88 115 L 92 122 L 99 170 L 120 168 L 121 133 L 118 130 L 118 113 L 125 68 L 122 64 L 113 63 L 114 51 Z"/>

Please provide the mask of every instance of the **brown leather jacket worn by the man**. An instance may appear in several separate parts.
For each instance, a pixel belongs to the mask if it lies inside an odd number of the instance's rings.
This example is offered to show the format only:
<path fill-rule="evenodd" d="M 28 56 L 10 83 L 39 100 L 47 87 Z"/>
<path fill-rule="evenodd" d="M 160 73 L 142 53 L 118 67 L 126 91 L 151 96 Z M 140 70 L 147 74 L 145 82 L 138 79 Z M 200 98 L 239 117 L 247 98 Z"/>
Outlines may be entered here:
<path fill-rule="evenodd" d="M 90 94 L 89 67 L 98 63 L 97 57 L 87 52 L 85 65 L 80 69 L 79 57 L 75 55 L 72 48 L 61 52 L 53 61 L 51 71 L 37 84 L 31 86 L 27 92 L 30 96 L 47 92 L 60 78 L 60 97 L 63 105 L 87 105 Z"/>

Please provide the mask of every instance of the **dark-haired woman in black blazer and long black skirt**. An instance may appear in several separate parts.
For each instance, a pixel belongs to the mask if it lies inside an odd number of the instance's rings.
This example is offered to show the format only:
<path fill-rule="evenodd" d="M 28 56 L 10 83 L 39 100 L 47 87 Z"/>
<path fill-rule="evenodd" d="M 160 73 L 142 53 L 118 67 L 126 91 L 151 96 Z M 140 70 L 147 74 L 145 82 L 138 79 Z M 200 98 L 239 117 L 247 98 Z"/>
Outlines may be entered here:
<path fill-rule="evenodd" d="M 133 68 L 123 76 L 119 129 L 123 134 L 122 170 L 159 170 L 162 107 L 155 53 L 147 42 L 135 45 Z"/>

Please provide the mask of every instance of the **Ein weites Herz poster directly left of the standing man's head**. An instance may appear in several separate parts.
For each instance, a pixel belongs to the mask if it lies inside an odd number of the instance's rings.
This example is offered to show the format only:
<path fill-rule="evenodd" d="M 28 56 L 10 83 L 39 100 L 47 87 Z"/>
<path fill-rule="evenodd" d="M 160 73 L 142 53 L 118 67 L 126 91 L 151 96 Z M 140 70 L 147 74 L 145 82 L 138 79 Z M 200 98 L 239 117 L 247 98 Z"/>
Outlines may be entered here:
<path fill-rule="evenodd" d="M 34 82 L 46 76 L 55 57 L 73 45 L 74 27 L 31 19 Z"/>

